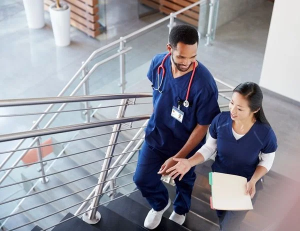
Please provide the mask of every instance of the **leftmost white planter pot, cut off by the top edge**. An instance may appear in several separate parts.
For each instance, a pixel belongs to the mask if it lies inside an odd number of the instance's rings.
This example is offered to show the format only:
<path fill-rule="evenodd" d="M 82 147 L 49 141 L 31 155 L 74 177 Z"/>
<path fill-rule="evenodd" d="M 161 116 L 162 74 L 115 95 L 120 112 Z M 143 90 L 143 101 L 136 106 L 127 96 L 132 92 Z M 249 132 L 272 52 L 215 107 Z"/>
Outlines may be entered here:
<path fill-rule="evenodd" d="M 23 0 L 29 28 L 39 29 L 45 25 L 43 0 Z"/>

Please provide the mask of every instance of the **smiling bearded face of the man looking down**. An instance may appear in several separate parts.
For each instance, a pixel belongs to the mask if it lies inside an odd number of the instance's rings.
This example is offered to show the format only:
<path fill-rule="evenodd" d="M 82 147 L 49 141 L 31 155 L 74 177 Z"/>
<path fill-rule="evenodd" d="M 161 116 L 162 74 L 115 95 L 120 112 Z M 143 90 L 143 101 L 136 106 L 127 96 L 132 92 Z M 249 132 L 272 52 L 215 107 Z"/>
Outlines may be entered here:
<path fill-rule="evenodd" d="M 171 52 L 172 63 L 179 71 L 187 71 L 195 62 L 197 56 L 197 46 L 197 43 L 188 45 L 178 42 L 174 48 L 170 44 L 167 44 L 167 50 Z"/>

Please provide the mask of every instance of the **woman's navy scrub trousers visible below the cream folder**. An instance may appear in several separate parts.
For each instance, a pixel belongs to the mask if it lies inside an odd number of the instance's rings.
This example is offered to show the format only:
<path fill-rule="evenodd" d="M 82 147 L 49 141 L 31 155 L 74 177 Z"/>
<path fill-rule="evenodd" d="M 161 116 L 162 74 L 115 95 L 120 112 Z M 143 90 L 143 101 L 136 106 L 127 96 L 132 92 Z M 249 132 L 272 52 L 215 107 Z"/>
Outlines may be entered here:
<path fill-rule="evenodd" d="M 254 204 L 258 191 L 252 198 Z M 219 225 L 221 231 L 240 231 L 240 224 L 247 214 L 248 210 L 232 211 L 232 210 L 216 210 L 219 218 Z"/>

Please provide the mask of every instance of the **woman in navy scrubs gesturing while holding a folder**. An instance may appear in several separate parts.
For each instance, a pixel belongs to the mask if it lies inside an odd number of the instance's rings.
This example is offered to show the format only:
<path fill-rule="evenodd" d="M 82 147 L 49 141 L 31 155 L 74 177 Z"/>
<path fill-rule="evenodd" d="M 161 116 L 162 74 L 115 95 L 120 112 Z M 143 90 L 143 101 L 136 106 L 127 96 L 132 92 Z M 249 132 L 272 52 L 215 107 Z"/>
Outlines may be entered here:
<path fill-rule="evenodd" d="M 247 178 L 246 192 L 255 202 L 256 190 L 262 188 L 260 178 L 270 169 L 277 148 L 276 136 L 262 110 L 262 92 L 253 82 L 235 87 L 229 111 L 219 113 L 211 122 L 206 143 L 190 158 L 174 158 L 177 164 L 169 168 L 172 178 L 179 180 L 188 170 L 216 150 L 212 171 Z M 259 158 L 260 156 L 260 158 Z M 240 230 L 247 211 L 216 210 L 220 230 Z"/>

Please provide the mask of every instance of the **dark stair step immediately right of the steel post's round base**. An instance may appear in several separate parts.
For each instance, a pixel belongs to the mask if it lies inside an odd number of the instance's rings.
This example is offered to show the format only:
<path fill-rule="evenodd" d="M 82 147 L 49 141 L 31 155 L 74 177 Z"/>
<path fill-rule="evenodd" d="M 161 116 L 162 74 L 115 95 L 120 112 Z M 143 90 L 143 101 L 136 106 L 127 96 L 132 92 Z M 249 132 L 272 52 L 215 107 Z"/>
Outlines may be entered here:
<path fill-rule="evenodd" d="M 93 226 L 103 230 L 122 230 L 122 231 L 141 231 L 146 230 L 145 228 L 132 223 L 131 221 L 124 218 L 122 215 L 110 210 L 105 206 L 100 206 L 98 211 L 101 214 L 101 219 L 98 223 Z M 113 220 L 113 222 L 112 222 Z"/>

